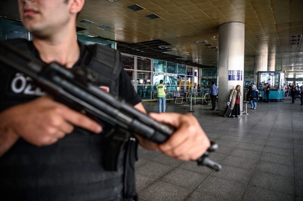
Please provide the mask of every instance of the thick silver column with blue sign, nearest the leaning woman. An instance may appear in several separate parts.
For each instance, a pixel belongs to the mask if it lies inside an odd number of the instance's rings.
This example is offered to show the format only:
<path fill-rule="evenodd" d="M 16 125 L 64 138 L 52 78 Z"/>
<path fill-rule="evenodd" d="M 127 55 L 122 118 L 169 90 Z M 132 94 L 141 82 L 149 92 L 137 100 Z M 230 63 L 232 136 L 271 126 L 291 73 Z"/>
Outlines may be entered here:
<path fill-rule="evenodd" d="M 236 85 L 240 85 L 243 92 L 244 32 L 244 23 L 241 22 L 219 26 L 218 111 L 225 110 L 231 89 Z M 241 102 L 241 111 L 242 105 Z"/>

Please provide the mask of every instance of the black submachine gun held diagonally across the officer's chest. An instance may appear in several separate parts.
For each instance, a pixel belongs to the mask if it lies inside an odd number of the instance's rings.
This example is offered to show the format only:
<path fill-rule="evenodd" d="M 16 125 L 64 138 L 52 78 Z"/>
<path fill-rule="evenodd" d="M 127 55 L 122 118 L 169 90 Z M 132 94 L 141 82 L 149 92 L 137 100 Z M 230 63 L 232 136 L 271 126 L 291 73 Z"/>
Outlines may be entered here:
<path fill-rule="evenodd" d="M 110 146 L 114 149 L 109 151 L 110 155 L 107 157 L 110 157 L 110 160 L 107 160 L 106 169 L 116 169 L 119 153 L 131 133 L 161 144 L 174 132 L 174 129 L 155 121 L 124 100 L 93 85 L 91 80 L 97 73 L 88 68 L 67 69 L 57 62 L 45 63 L 6 43 L 0 42 L 1 46 L 5 48 L 6 55 L 0 55 L 0 61 L 31 77 L 36 86 L 41 87 L 56 101 L 82 112 L 102 126 L 110 125 L 109 128 L 120 131 L 115 132 L 112 137 Z M 221 165 L 209 159 L 209 152 L 217 147 L 217 144 L 211 142 L 206 153 L 197 159 L 198 165 L 220 170 Z"/>

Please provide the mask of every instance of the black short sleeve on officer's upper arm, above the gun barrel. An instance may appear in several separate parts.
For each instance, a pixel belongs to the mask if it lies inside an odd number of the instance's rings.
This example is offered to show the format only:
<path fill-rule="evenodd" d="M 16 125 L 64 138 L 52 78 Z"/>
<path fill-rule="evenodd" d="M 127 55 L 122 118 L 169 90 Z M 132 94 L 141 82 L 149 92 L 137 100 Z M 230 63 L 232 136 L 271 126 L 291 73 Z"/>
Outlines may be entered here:
<path fill-rule="evenodd" d="M 131 105 L 141 102 L 140 96 L 135 92 L 134 86 L 132 86 L 124 69 L 121 70 L 119 75 L 119 96 Z"/>

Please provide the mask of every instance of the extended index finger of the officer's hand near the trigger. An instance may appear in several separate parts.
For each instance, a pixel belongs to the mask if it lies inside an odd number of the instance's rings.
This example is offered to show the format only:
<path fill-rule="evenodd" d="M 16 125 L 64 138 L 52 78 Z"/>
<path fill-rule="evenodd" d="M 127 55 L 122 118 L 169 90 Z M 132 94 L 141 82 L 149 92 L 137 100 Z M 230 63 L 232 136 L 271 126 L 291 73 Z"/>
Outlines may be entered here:
<path fill-rule="evenodd" d="M 62 115 L 66 121 L 73 125 L 85 128 L 95 133 L 100 133 L 102 131 L 102 126 L 97 122 L 79 112 L 76 112 L 75 110 L 69 109 L 68 107 L 65 107 L 62 110 Z"/>

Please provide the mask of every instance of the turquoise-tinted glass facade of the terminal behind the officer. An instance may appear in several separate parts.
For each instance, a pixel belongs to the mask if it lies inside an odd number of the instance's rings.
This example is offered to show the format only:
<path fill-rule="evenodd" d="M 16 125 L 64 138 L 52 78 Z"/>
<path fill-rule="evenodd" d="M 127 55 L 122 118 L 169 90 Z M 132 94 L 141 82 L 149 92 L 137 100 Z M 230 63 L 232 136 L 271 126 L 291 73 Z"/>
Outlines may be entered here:
<path fill-rule="evenodd" d="M 20 21 L 0 18 L 0 40 L 13 38 L 25 38 L 32 40 L 32 34 L 28 33 Z M 110 41 L 99 40 L 94 37 L 77 34 L 77 40 L 83 44 L 102 44 L 115 48 L 116 44 Z M 134 89 L 142 99 L 150 99 L 152 91 L 156 91 L 156 86 L 163 79 L 168 92 L 188 92 L 200 83 L 201 73 L 199 68 L 139 57 L 122 53 L 122 65 Z M 211 69 L 211 68 L 210 68 Z M 212 69 L 215 72 L 217 68 Z M 202 84 L 201 84 L 202 86 Z"/>

